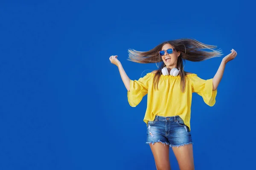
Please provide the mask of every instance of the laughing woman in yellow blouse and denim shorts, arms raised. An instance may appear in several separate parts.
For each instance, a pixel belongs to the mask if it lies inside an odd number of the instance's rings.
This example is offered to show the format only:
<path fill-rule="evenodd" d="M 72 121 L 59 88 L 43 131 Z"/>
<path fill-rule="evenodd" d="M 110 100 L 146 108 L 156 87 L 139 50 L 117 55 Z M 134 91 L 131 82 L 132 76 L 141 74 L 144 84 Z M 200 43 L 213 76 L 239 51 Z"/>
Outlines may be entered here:
<path fill-rule="evenodd" d="M 148 94 L 144 122 L 147 125 L 147 144 L 154 156 L 157 170 L 170 170 L 169 147 L 175 154 L 180 170 L 193 170 L 194 159 L 190 133 L 190 111 L 192 93 L 197 93 L 209 105 L 215 105 L 217 87 L 224 68 L 237 55 L 235 50 L 224 57 L 212 79 L 201 79 L 197 74 L 184 71 L 183 61 L 203 61 L 220 57 L 221 51 L 193 39 L 178 39 L 163 42 L 150 51 L 129 50 L 129 59 L 138 63 L 161 62 L 158 70 L 138 80 L 126 75 L 117 56 L 111 56 L 111 63 L 119 69 L 122 81 L 128 90 L 128 102 L 137 106 Z M 209 49 L 211 51 L 202 51 Z"/>

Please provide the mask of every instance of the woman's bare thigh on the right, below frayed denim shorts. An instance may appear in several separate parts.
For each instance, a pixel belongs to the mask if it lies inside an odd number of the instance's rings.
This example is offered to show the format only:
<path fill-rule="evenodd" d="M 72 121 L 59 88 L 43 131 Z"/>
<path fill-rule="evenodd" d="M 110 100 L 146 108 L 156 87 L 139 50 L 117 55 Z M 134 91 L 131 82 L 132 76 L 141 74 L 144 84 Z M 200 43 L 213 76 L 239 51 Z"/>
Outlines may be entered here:
<path fill-rule="evenodd" d="M 180 170 L 194 170 L 194 157 L 192 144 L 180 147 L 172 147 L 173 153 L 178 161 Z"/>

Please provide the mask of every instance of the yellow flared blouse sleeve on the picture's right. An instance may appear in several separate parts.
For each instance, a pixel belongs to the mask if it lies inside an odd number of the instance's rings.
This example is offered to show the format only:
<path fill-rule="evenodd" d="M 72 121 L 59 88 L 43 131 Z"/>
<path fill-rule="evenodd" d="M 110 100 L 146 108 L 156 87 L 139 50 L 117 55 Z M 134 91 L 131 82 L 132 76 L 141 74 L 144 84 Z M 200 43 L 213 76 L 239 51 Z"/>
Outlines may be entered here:
<path fill-rule="evenodd" d="M 198 76 L 192 76 L 191 80 L 192 92 L 202 96 L 207 105 L 215 105 L 217 89 L 215 91 L 212 90 L 212 79 L 204 80 Z"/>

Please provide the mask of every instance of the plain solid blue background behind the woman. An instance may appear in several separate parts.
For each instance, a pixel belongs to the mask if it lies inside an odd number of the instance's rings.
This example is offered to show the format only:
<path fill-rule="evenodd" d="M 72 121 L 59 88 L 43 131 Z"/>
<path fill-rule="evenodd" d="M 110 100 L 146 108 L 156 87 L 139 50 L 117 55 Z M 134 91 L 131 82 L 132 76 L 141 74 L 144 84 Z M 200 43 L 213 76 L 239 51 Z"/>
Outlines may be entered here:
<path fill-rule="evenodd" d="M 227 63 L 216 104 L 193 94 L 197 170 L 255 167 L 255 3 L 233 1 L 7 1 L 0 3 L 0 169 L 154 170 L 145 144 L 146 96 L 132 108 L 118 68 L 139 79 L 155 64 L 127 61 L 177 38 L 217 45 Z M 223 56 L 223 57 L 224 57 Z M 186 62 L 214 77 L 220 58 Z M 178 164 L 172 150 L 173 170 Z"/>

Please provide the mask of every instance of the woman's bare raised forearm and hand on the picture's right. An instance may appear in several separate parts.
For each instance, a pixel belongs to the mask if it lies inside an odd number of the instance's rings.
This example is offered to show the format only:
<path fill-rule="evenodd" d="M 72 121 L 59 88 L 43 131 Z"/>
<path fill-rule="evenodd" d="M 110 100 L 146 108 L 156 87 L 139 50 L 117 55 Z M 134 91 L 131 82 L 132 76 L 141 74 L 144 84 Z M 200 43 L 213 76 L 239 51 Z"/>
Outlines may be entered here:
<path fill-rule="evenodd" d="M 212 90 L 213 91 L 215 91 L 218 88 L 218 85 L 221 82 L 227 62 L 234 59 L 236 57 L 236 55 L 237 55 L 236 51 L 234 49 L 232 49 L 231 53 L 222 59 L 221 65 L 219 66 L 217 73 L 215 74 L 215 76 L 212 79 Z"/>

